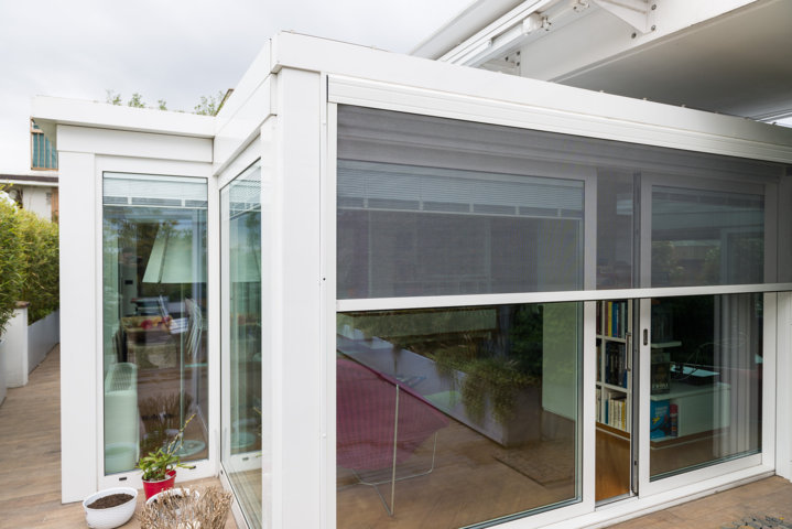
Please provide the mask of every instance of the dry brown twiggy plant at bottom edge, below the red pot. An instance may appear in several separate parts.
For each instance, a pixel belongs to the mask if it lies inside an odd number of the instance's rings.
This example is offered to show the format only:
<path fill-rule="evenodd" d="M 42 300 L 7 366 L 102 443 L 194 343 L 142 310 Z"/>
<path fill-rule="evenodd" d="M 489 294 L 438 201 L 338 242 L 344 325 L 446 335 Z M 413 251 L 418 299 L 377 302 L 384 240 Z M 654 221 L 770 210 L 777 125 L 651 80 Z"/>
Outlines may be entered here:
<path fill-rule="evenodd" d="M 141 529 L 223 529 L 231 508 L 231 493 L 218 487 L 174 488 L 138 515 Z M 197 494 L 196 494 L 197 493 Z"/>

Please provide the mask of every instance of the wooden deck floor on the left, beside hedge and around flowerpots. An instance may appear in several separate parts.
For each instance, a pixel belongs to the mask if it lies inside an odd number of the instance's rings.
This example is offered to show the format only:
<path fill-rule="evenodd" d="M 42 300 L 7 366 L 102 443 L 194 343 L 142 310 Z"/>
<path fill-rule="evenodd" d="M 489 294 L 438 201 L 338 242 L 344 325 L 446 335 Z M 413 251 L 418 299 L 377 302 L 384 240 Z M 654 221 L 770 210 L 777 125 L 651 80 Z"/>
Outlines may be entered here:
<path fill-rule="evenodd" d="M 61 354 L 55 347 L 24 388 L 0 406 L 0 529 L 85 528 L 83 505 L 61 504 Z M 217 485 L 218 479 L 193 482 Z M 143 493 L 138 496 L 139 506 Z M 139 507 L 140 508 L 140 507 Z M 139 529 L 133 517 L 123 529 Z M 229 515 L 226 529 L 237 525 Z"/>

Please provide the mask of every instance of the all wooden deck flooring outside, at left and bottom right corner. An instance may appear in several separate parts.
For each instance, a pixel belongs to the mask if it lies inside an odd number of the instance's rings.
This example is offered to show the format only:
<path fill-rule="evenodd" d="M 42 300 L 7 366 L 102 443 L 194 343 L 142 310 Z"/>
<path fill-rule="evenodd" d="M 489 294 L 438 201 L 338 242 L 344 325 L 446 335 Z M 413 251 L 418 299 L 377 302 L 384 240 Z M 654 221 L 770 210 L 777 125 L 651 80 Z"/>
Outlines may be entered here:
<path fill-rule="evenodd" d="M 198 485 L 218 484 L 203 479 Z M 140 496 L 142 498 L 142 494 Z M 615 529 L 720 529 L 749 516 L 792 522 L 792 483 L 770 477 L 612 526 Z M 85 528 L 79 503 L 61 504 L 59 352 L 0 407 L 0 529 Z M 226 529 L 236 529 L 229 516 Z M 131 520 L 124 529 L 139 529 Z"/>

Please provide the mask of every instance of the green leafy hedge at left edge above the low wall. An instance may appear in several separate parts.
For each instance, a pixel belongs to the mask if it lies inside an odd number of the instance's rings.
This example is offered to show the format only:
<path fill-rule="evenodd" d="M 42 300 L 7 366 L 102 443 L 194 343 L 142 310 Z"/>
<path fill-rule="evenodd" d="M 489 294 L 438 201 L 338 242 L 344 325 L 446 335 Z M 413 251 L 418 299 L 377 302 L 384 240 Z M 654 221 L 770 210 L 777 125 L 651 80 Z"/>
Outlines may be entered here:
<path fill-rule="evenodd" d="M 29 301 L 28 323 L 58 306 L 57 225 L 0 197 L 0 333 L 17 301 Z"/>

